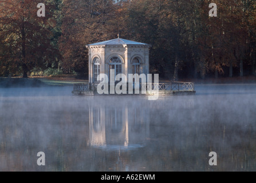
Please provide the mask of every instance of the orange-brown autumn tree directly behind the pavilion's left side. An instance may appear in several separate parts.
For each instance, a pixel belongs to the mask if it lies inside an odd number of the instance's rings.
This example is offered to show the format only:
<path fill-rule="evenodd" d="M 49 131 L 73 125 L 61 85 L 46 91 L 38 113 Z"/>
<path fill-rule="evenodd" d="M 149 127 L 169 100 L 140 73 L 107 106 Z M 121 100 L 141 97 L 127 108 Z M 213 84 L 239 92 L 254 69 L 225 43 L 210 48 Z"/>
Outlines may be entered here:
<path fill-rule="evenodd" d="M 88 74 L 86 45 L 112 38 L 109 22 L 115 18 L 113 2 L 64 1 L 60 50 L 63 56 L 62 67 L 66 72 L 74 70 L 82 75 Z"/>

